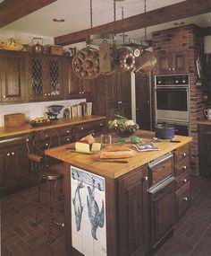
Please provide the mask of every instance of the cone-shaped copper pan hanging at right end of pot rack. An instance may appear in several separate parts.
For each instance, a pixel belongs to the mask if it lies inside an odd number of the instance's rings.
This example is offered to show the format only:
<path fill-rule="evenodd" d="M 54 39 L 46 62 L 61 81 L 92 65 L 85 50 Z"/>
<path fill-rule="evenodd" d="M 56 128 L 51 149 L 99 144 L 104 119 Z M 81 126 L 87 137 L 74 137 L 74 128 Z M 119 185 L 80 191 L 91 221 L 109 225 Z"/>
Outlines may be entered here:
<path fill-rule="evenodd" d="M 148 73 L 154 66 L 156 66 L 156 57 L 148 50 L 143 50 L 139 57 L 135 58 L 135 72 Z"/>

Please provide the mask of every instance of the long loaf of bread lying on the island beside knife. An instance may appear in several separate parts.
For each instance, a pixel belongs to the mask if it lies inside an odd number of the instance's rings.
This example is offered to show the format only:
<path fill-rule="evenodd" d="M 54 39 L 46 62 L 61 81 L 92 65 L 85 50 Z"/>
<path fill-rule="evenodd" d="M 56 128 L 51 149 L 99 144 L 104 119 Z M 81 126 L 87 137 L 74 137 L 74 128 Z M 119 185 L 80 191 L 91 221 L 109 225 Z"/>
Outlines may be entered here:
<path fill-rule="evenodd" d="M 129 158 L 133 157 L 135 155 L 135 151 L 131 148 L 122 148 L 122 147 L 111 147 L 111 148 L 105 148 L 105 150 L 102 150 L 99 154 L 99 158 Z"/>

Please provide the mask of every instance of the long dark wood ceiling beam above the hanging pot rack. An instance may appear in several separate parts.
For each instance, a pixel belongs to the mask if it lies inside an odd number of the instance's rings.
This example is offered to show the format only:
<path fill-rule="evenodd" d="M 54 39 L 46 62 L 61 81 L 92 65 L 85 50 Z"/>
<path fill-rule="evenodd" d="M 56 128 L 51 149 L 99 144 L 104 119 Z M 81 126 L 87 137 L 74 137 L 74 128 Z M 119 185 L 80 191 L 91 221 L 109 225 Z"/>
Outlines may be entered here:
<path fill-rule="evenodd" d="M 89 35 L 102 33 L 120 33 L 134 31 L 149 26 L 184 19 L 202 13 L 211 12 L 211 1 L 187 0 L 178 4 L 168 5 L 148 13 L 140 13 L 120 21 L 106 23 L 83 31 L 73 32 L 55 37 L 55 44 L 68 45 L 85 41 Z"/>

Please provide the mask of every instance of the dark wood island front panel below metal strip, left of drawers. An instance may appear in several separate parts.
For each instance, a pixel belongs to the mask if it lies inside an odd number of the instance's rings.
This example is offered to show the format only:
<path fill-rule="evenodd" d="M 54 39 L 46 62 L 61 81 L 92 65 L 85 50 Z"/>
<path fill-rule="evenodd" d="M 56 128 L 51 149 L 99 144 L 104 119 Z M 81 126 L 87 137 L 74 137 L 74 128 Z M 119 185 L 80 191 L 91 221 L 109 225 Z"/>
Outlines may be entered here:
<path fill-rule="evenodd" d="M 149 190 L 151 248 L 156 247 L 175 224 L 174 180 L 169 178 Z"/>

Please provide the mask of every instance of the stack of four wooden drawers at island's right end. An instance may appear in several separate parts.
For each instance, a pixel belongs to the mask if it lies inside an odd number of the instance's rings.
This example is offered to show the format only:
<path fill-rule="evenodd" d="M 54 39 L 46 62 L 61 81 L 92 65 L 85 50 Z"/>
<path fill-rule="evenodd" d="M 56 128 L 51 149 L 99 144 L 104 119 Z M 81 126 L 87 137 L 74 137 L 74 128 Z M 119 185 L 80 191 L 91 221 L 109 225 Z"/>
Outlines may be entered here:
<path fill-rule="evenodd" d="M 190 207 L 190 144 L 174 150 L 176 216 L 180 218 Z"/>

